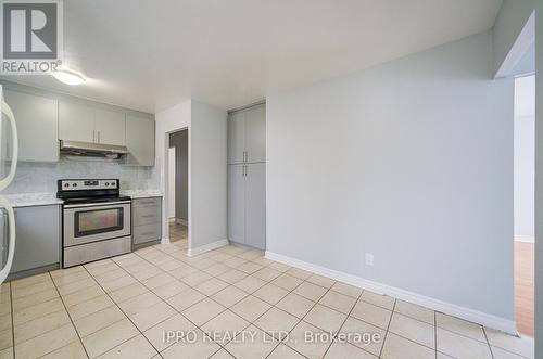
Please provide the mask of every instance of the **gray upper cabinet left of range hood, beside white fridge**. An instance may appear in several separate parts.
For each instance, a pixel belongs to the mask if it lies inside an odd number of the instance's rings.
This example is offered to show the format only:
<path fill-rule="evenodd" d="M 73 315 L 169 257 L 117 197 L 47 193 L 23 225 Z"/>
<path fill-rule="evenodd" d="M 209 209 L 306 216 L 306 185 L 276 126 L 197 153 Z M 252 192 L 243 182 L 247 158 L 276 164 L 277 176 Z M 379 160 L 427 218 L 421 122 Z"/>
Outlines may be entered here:
<path fill-rule="evenodd" d="M 4 91 L 4 98 L 17 121 L 18 159 L 58 162 L 58 101 L 11 90 Z"/>

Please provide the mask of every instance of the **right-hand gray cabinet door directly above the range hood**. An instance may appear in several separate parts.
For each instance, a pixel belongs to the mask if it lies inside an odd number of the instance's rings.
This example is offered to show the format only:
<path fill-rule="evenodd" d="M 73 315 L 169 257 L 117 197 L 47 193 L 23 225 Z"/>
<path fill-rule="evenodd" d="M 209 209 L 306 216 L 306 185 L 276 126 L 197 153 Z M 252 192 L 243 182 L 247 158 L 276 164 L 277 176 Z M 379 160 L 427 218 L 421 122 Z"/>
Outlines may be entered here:
<path fill-rule="evenodd" d="M 96 110 L 96 142 L 125 145 L 126 117 L 122 112 Z"/>

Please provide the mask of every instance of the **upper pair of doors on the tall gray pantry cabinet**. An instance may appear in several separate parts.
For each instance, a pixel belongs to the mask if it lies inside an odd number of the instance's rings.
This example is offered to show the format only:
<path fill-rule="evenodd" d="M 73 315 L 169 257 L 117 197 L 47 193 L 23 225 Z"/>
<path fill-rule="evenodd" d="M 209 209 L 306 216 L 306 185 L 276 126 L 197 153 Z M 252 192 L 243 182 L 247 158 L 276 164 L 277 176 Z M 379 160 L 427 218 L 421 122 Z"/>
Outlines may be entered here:
<path fill-rule="evenodd" d="M 266 105 L 228 115 L 228 164 L 266 161 Z"/>

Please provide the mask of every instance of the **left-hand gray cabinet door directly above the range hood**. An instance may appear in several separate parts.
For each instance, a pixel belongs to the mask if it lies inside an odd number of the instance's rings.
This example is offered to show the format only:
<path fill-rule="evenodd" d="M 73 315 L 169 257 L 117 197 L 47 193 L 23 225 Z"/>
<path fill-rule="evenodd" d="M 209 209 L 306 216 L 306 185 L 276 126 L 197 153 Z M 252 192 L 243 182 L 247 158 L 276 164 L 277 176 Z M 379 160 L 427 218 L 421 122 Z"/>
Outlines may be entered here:
<path fill-rule="evenodd" d="M 94 142 L 94 108 L 61 101 L 59 111 L 60 140 Z"/>

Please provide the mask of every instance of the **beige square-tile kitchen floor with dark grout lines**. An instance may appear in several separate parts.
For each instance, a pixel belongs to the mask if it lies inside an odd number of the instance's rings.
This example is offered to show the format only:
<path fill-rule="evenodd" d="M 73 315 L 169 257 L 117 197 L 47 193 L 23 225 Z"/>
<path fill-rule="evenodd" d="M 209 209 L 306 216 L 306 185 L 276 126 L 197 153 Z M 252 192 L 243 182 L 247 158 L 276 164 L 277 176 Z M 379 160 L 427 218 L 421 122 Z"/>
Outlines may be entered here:
<path fill-rule="evenodd" d="M 180 240 L 2 284 L 0 358 L 533 358 L 529 337 L 244 248 L 191 258 L 186 248 Z M 165 341 L 165 331 L 187 341 Z"/>

